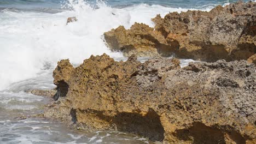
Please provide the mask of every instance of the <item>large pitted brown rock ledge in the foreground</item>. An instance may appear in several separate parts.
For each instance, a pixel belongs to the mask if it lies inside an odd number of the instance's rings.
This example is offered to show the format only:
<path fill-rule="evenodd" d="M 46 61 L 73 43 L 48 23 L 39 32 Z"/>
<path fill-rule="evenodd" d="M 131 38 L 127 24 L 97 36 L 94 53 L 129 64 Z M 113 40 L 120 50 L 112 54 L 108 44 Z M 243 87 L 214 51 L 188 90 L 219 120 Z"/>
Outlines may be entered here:
<path fill-rule="evenodd" d="M 119 130 L 163 143 L 255 143 L 256 73 L 246 61 L 190 63 L 91 56 L 54 70 L 58 100 L 44 116 L 82 130 Z"/>

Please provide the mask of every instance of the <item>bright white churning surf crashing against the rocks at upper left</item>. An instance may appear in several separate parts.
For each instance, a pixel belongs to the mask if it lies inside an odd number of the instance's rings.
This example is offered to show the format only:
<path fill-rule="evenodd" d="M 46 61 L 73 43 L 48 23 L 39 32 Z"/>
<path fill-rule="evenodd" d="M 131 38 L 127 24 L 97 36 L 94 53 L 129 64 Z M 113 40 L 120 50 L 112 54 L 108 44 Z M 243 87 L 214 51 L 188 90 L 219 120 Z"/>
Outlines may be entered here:
<path fill-rule="evenodd" d="M 83 1 L 66 4 L 72 10 L 62 13 L 15 11 L 4 9 L 0 13 L 0 90 L 10 83 L 37 76 L 47 67 L 55 67 L 60 59 L 69 58 L 72 63 L 82 63 L 90 55 L 107 53 L 122 57 L 121 53 L 108 50 L 102 34 L 120 25 L 129 28 L 134 22 L 153 27 L 150 21 L 181 8 L 160 5 L 133 5 L 118 9 L 98 2 L 97 9 Z M 114 15 L 113 15 L 114 14 Z M 76 16 L 77 22 L 66 26 L 67 17 Z"/>

